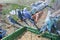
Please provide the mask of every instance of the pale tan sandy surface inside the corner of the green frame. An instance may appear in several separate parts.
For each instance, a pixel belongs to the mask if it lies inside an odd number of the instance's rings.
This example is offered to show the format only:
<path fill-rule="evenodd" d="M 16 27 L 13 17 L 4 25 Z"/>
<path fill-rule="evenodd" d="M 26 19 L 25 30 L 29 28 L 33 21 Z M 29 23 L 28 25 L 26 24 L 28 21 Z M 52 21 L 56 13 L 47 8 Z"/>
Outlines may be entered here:
<path fill-rule="evenodd" d="M 18 40 L 50 40 L 50 39 L 40 37 L 39 35 L 27 31 L 21 38 L 18 37 Z"/>

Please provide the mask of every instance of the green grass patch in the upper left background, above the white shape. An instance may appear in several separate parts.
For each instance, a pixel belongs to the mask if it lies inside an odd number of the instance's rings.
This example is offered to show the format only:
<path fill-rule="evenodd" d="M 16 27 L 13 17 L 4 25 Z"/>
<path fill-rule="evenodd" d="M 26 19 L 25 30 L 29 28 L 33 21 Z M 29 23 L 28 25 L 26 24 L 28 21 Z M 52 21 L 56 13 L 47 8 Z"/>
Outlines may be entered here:
<path fill-rule="evenodd" d="M 17 4 L 8 4 L 8 6 L 10 6 L 10 7 L 9 8 L 5 8 L 5 9 L 2 10 L 2 14 L 3 15 L 9 14 L 9 12 L 11 10 L 15 10 L 15 9 L 22 10 L 24 7 L 27 7 L 25 5 L 17 5 Z M 28 8 L 28 10 L 30 9 L 29 7 L 27 7 L 27 8 Z"/>

